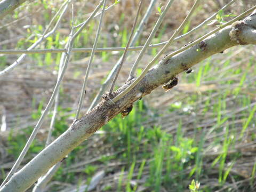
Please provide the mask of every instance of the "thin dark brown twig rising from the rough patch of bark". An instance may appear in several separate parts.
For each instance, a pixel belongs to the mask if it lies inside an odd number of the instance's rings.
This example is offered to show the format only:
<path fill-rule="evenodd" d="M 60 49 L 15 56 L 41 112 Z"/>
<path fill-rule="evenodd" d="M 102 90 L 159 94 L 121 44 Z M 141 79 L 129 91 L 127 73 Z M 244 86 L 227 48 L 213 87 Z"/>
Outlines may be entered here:
<path fill-rule="evenodd" d="M 124 50 L 124 53 L 123 53 L 123 56 L 122 56 L 122 60 L 121 60 L 121 63 L 120 65 L 118 66 L 118 69 L 117 69 L 117 73 L 115 75 L 115 78 L 113 79 L 113 82 L 112 82 L 112 85 L 110 87 L 110 90 L 109 90 L 109 94 L 112 93 L 113 89 L 114 89 L 114 86 L 115 86 L 115 83 L 116 83 L 116 79 L 120 73 L 120 70 L 123 66 L 123 63 L 124 63 L 124 60 L 125 60 L 125 57 L 126 57 L 126 54 L 127 54 L 127 51 L 128 51 L 128 47 L 130 46 L 130 43 L 131 43 L 131 40 L 132 40 L 132 36 L 133 36 L 133 33 L 134 33 L 134 30 L 135 30 L 135 27 L 137 25 L 137 20 L 138 20 L 138 17 L 139 17 L 139 13 L 140 13 L 140 10 L 141 10 L 141 5 L 143 3 L 143 0 L 140 0 L 140 4 L 139 4 L 139 8 L 138 8 L 138 11 L 137 11 L 137 14 L 136 14 L 136 17 L 135 17 L 135 20 L 134 20 L 134 23 L 133 23 L 133 26 L 132 26 L 132 31 L 131 31 L 131 34 L 130 34 L 130 37 L 128 39 L 128 42 L 127 42 L 127 45 L 125 47 L 125 50 Z"/>

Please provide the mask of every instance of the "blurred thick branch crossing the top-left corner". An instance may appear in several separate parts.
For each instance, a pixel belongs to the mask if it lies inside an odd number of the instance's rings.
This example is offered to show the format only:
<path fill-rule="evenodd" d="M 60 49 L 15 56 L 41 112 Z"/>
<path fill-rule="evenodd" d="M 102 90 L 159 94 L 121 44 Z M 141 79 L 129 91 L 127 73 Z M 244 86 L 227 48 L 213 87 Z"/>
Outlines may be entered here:
<path fill-rule="evenodd" d="M 27 0 L 3 0 L 0 2 L 0 19 Z"/>

